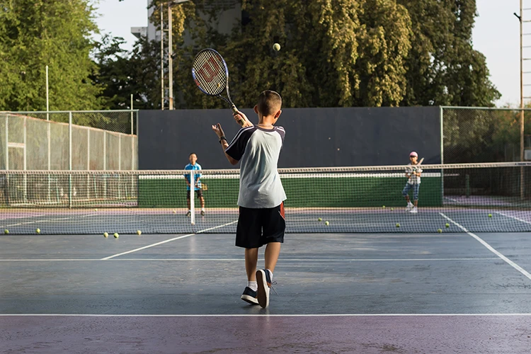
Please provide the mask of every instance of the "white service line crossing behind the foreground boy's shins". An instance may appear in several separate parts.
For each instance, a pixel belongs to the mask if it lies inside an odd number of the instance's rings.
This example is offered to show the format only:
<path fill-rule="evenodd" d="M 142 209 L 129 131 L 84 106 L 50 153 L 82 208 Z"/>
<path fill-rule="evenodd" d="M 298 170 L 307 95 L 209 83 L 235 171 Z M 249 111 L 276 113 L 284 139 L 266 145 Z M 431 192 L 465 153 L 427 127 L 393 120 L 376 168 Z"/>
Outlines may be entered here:
<path fill-rule="evenodd" d="M 351 258 L 351 259 L 313 259 L 290 258 L 279 259 L 278 262 L 415 262 L 415 261 L 492 261 L 498 257 L 490 258 Z M 33 258 L 33 259 L 0 259 L 0 262 L 94 262 L 108 261 L 102 258 Z M 145 262 L 182 262 L 182 261 L 211 261 L 211 262 L 241 262 L 241 258 L 119 258 L 113 262 L 145 261 Z M 262 261 L 258 259 L 258 261 Z"/>

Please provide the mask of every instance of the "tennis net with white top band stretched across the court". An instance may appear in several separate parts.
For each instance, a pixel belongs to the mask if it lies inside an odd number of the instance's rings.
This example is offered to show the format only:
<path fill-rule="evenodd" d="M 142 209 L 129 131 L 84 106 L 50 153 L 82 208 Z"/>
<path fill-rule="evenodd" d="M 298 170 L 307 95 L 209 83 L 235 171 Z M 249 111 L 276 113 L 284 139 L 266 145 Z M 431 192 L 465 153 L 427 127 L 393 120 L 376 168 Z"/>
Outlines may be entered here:
<path fill-rule="evenodd" d="M 280 169 L 286 232 L 531 232 L 531 163 L 422 166 L 418 212 L 406 166 Z M 239 170 L 0 171 L 0 229 L 10 234 L 234 233 Z M 413 188 L 409 195 L 413 201 Z M 196 193 L 194 193 L 196 194 Z"/>

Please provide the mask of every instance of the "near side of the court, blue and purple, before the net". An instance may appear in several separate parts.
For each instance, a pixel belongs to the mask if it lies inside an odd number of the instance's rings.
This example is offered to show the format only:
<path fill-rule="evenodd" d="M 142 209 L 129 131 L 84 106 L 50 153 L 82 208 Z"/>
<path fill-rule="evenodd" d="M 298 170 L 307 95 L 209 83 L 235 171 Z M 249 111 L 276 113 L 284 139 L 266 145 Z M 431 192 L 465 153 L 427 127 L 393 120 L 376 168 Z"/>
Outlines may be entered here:
<path fill-rule="evenodd" d="M 529 232 L 292 232 L 266 309 L 239 298 L 246 275 L 234 234 L 4 234 L 0 244 L 6 353 L 531 347 Z"/>

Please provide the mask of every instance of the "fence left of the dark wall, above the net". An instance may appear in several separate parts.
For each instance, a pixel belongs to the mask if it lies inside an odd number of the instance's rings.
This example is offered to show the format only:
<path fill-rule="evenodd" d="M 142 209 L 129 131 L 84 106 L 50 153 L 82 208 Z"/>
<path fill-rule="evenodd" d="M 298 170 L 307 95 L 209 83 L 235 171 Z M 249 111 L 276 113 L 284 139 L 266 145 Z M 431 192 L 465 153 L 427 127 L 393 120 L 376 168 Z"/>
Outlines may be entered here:
<path fill-rule="evenodd" d="M 137 110 L 0 113 L 0 170 L 138 169 Z"/>

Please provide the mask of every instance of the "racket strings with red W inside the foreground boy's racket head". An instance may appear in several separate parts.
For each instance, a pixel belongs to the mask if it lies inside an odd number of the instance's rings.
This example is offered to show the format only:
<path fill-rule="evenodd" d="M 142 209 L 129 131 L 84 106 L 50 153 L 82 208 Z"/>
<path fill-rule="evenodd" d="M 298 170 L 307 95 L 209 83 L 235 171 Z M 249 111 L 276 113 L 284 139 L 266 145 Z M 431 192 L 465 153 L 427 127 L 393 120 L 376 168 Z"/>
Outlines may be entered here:
<path fill-rule="evenodd" d="M 227 86 L 223 60 L 213 52 L 200 52 L 193 62 L 195 84 L 210 95 L 219 95 Z"/>

